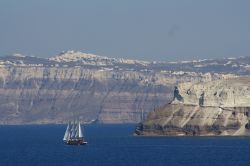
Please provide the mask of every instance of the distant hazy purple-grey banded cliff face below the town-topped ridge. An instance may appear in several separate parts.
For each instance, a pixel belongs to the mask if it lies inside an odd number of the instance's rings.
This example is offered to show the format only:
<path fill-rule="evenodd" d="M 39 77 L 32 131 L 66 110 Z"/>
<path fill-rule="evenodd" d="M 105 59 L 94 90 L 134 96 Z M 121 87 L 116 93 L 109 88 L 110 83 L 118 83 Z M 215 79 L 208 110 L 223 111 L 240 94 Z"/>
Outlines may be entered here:
<path fill-rule="evenodd" d="M 84 68 L 0 68 L 1 123 L 139 122 L 169 100 L 159 76 Z M 151 79 L 161 79 L 152 82 Z M 145 80 L 149 80 L 145 82 Z"/>

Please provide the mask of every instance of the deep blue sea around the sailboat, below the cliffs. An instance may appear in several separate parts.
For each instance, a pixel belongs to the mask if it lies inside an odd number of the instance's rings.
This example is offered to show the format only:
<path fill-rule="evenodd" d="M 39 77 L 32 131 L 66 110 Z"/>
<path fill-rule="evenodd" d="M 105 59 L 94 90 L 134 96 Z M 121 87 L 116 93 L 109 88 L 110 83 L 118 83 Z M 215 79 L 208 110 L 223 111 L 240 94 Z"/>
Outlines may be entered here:
<path fill-rule="evenodd" d="M 0 126 L 0 166 L 250 164 L 247 137 L 133 137 L 133 125 L 89 125 L 87 146 L 62 142 L 66 126 Z"/>

